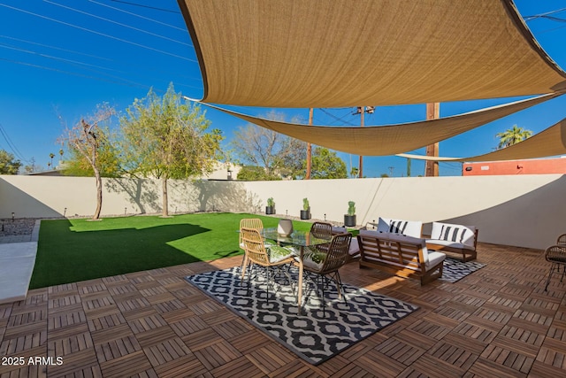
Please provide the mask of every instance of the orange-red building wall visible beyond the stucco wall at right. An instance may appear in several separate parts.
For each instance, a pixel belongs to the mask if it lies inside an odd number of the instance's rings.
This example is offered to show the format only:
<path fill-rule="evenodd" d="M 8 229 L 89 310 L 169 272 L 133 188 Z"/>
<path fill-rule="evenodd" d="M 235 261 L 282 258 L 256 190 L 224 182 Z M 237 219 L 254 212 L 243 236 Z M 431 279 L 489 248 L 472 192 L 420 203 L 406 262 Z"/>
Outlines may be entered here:
<path fill-rule="evenodd" d="M 566 174 L 566 158 L 537 158 L 530 160 L 463 163 L 462 174 L 463 176 L 486 176 L 496 174 Z"/>

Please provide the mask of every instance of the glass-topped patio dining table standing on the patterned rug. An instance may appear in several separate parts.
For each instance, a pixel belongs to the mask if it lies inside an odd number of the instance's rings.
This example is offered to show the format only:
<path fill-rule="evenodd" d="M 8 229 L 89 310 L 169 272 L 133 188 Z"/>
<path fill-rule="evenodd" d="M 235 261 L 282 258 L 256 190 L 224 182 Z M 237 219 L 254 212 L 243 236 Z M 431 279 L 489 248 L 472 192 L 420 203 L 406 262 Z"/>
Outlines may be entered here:
<path fill-rule="evenodd" d="M 302 262 L 302 255 L 304 253 L 304 247 L 310 247 L 314 245 L 320 245 L 325 243 L 330 243 L 332 238 L 319 238 L 312 235 L 310 231 L 297 231 L 294 230 L 291 235 L 284 236 L 279 235 L 277 228 L 264 228 L 261 232 L 264 239 L 272 240 L 278 244 L 294 245 L 299 247 L 299 253 L 296 253 L 297 262 L 299 263 L 299 287 L 297 289 L 297 312 L 302 312 L 302 272 L 304 265 Z"/>

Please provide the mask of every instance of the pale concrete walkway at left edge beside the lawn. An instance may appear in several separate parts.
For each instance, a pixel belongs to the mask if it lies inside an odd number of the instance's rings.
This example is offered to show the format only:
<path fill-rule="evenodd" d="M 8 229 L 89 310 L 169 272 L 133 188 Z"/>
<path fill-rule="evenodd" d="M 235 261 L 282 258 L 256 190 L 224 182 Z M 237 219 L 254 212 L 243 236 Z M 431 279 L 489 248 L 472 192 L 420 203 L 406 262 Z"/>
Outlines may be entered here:
<path fill-rule="evenodd" d="M 0 242 L 0 304 L 25 299 L 34 272 L 41 220 L 31 235 L 3 236 Z"/>

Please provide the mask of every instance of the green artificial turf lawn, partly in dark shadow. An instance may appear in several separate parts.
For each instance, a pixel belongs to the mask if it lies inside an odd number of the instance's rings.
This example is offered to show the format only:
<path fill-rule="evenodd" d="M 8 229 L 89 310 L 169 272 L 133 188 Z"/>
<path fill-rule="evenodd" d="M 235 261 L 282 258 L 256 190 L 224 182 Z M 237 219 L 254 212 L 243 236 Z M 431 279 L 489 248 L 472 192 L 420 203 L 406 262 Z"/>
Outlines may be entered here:
<path fill-rule="evenodd" d="M 241 255 L 242 218 L 278 218 L 208 212 L 172 218 L 137 216 L 91 220 L 42 220 L 30 289 Z M 307 230 L 310 223 L 294 221 Z"/>

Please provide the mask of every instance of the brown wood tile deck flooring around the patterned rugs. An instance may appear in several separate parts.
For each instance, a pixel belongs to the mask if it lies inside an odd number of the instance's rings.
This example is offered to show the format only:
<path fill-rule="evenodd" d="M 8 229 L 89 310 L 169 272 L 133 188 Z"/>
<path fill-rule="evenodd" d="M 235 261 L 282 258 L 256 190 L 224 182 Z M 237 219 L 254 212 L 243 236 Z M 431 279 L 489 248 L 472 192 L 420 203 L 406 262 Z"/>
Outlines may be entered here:
<path fill-rule="evenodd" d="M 420 309 L 310 366 L 183 280 L 241 258 L 76 282 L 0 305 L 0 377 L 566 375 L 566 280 L 542 251 L 480 244 L 486 267 L 419 282 L 348 264 L 344 282 Z"/>

